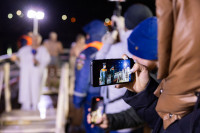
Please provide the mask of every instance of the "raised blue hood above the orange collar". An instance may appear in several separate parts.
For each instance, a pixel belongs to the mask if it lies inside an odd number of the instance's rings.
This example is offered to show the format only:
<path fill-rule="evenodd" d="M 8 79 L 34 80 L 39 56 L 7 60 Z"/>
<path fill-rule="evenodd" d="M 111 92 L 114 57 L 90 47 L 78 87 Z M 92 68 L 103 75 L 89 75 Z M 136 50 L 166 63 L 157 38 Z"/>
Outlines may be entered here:
<path fill-rule="evenodd" d="M 106 27 L 100 20 L 93 20 L 83 27 L 86 34 L 90 36 L 88 42 L 101 41 L 101 38 L 106 33 Z"/>

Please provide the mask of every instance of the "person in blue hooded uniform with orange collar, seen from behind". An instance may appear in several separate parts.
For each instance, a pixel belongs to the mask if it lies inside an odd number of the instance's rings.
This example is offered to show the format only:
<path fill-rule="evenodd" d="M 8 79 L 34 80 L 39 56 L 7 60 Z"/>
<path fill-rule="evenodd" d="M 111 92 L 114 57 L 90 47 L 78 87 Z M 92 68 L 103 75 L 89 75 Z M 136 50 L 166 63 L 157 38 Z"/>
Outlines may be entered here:
<path fill-rule="evenodd" d="M 73 94 L 73 103 L 76 108 L 84 107 L 84 126 L 87 133 L 101 133 L 99 127 L 91 128 L 87 123 L 88 108 L 91 107 L 91 100 L 94 96 L 100 96 L 100 88 L 94 88 L 90 83 L 90 62 L 98 52 L 103 43 L 102 36 L 106 33 L 106 27 L 100 20 L 93 20 L 87 24 L 83 30 L 87 34 L 87 45 L 76 59 L 75 68 L 75 89 Z"/>

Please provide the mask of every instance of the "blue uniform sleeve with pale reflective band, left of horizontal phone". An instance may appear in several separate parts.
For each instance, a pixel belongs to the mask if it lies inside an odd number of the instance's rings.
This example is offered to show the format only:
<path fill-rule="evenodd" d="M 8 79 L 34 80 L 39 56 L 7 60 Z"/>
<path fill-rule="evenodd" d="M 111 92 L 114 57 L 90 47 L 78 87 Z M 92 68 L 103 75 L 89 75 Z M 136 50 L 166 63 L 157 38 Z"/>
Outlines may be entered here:
<path fill-rule="evenodd" d="M 86 100 L 87 90 L 90 86 L 90 81 L 89 81 L 90 59 L 86 57 L 86 59 L 82 63 L 83 63 L 82 68 L 77 69 L 76 67 L 75 69 L 76 80 L 75 80 L 73 103 L 77 108 L 83 106 Z"/>

